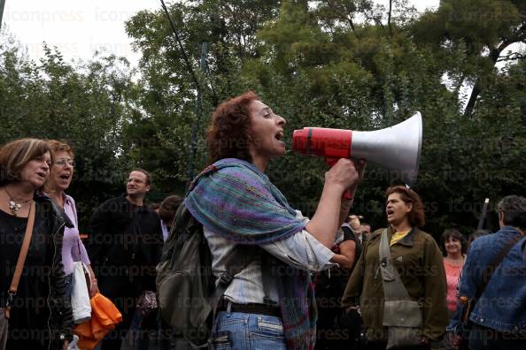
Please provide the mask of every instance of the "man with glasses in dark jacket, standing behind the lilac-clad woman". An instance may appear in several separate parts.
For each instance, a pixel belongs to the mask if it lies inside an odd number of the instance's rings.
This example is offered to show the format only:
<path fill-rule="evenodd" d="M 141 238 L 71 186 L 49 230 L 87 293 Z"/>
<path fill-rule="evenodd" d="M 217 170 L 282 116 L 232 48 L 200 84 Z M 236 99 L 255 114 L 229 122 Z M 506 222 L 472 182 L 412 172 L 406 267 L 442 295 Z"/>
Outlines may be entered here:
<path fill-rule="evenodd" d="M 120 349 L 143 291 L 155 291 L 162 247 L 160 220 L 144 205 L 151 190 L 148 171 L 129 173 L 126 194 L 98 207 L 90 223 L 89 258 L 101 293 L 119 308 L 122 323 L 103 340 L 102 350 Z"/>

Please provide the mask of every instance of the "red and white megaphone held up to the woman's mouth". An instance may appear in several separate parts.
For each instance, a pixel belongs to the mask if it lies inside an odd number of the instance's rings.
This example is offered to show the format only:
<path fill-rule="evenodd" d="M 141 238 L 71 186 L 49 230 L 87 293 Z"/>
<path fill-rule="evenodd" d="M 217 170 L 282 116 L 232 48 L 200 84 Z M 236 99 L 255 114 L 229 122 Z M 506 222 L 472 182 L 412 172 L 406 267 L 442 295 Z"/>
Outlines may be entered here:
<path fill-rule="evenodd" d="M 360 132 L 304 127 L 292 134 L 292 148 L 304 155 L 324 156 L 329 166 L 340 158 L 366 159 L 413 186 L 422 150 L 422 115 L 416 112 L 396 126 Z"/>

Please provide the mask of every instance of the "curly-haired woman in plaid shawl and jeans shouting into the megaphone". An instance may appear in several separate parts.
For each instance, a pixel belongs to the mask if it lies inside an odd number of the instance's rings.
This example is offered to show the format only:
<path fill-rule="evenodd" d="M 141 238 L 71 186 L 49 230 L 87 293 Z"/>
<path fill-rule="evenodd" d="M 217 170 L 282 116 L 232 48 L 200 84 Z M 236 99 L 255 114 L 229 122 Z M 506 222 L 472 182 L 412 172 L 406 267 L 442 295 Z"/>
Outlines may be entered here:
<path fill-rule="evenodd" d="M 194 179 L 184 202 L 204 226 L 216 277 L 228 270 L 231 252 L 246 261 L 222 296 L 216 347 L 313 348 L 310 273 L 331 265 L 342 194 L 354 194 L 364 164 L 337 162 L 325 174 L 313 218 L 303 217 L 265 175 L 269 161 L 285 154 L 285 124 L 252 92 L 220 104 L 206 136 L 210 166 Z"/>

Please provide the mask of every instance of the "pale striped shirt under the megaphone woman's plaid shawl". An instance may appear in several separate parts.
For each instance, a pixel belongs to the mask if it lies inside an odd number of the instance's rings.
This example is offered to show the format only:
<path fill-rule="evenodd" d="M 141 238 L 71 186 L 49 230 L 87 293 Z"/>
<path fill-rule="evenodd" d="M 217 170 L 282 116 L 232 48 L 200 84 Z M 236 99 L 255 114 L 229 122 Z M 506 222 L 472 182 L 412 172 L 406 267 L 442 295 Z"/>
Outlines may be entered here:
<path fill-rule="evenodd" d="M 308 221 L 297 210 L 297 218 Z M 203 227 L 205 238 L 212 252 L 212 269 L 216 278 L 226 271 L 224 260 L 236 243 L 211 232 Z M 291 235 L 285 240 L 279 240 L 260 246 L 271 255 L 300 270 L 316 272 L 333 266 L 329 263 L 334 253 L 306 230 Z M 279 301 L 276 285 L 268 288 L 272 301 Z M 228 285 L 225 298 L 238 304 L 263 303 L 263 278 L 261 275 L 261 261 L 259 256 L 249 263 L 244 270 L 236 274 L 232 283 Z"/>

